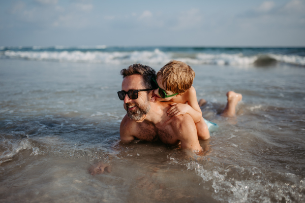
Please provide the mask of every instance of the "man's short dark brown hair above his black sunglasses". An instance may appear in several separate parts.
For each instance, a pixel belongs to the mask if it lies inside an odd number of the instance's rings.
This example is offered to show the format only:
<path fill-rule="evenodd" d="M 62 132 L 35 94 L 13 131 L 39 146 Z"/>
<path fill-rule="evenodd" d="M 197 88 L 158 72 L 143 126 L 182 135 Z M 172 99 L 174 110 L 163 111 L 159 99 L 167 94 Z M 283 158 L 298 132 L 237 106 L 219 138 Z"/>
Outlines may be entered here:
<path fill-rule="evenodd" d="M 134 74 L 139 74 L 143 77 L 144 86 L 146 89 L 155 89 L 155 85 L 151 79 L 156 78 L 157 74 L 154 69 L 151 69 L 148 65 L 142 65 L 140 63 L 133 64 L 128 67 L 128 69 L 123 69 L 120 71 L 123 78 L 132 76 Z"/>

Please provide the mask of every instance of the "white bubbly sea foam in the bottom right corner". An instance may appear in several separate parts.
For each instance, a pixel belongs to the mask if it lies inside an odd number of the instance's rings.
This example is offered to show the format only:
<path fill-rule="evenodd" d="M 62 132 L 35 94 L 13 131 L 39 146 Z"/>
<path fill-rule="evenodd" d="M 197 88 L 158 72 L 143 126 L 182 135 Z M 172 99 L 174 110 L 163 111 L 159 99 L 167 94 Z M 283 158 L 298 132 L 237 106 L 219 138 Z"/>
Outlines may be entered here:
<path fill-rule="evenodd" d="M 221 202 L 271 202 L 271 198 L 275 201 L 282 201 L 283 197 L 286 202 L 302 202 L 304 196 L 301 191 L 305 188 L 305 179 L 296 180 L 291 185 L 280 182 L 269 182 L 267 179 L 260 179 L 265 174 L 258 168 L 242 168 L 240 170 L 250 173 L 252 180 L 234 180 L 228 178 L 228 170 L 221 167 L 215 167 L 214 170 L 206 170 L 205 167 L 197 162 L 187 163 L 188 170 L 195 170 L 204 182 L 211 182 L 211 186 L 215 193 L 212 195 Z M 289 177 L 294 174 L 282 174 L 280 176 Z"/>

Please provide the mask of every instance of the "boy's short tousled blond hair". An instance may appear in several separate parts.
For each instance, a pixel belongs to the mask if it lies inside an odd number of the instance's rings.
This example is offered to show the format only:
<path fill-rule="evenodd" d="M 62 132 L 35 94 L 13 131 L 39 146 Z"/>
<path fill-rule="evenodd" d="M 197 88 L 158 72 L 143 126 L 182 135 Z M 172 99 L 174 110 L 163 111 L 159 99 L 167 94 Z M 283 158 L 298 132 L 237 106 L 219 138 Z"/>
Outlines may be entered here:
<path fill-rule="evenodd" d="M 166 84 L 167 90 L 181 95 L 191 88 L 195 72 L 188 64 L 171 60 L 157 73 L 157 78 L 159 76 L 162 84 Z"/>

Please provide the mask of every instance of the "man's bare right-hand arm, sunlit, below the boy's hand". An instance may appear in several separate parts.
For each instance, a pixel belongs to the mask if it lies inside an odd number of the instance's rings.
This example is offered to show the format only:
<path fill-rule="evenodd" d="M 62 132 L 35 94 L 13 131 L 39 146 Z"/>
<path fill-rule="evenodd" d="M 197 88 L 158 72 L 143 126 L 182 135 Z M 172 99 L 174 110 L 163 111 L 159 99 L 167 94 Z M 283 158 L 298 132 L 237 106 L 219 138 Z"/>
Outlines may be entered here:
<path fill-rule="evenodd" d="M 196 125 L 189 114 L 175 117 L 171 125 L 177 139 L 180 140 L 182 149 L 189 148 L 198 152 L 202 150 L 197 137 Z"/>

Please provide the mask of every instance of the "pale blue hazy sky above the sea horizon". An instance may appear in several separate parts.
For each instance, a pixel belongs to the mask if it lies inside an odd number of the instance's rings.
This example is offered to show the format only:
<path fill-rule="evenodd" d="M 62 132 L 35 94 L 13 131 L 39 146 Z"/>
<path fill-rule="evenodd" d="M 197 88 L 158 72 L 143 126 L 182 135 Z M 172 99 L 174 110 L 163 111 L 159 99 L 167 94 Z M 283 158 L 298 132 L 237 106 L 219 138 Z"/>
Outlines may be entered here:
<path fill-rule="evenodd" d="M 305 47 L 305 0 L 0 0 L 0 46 Z"/>

